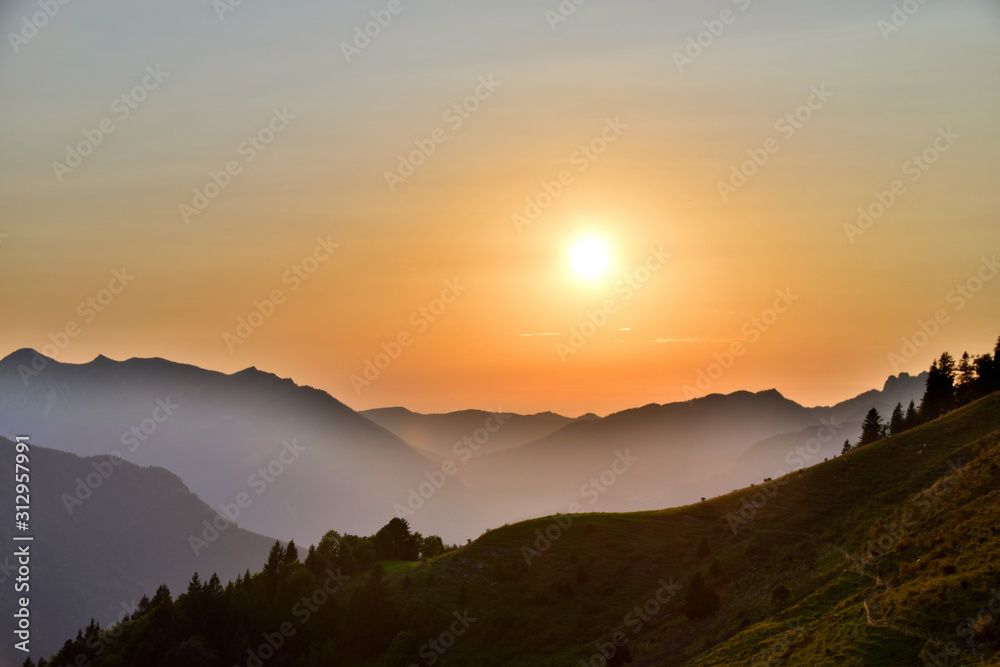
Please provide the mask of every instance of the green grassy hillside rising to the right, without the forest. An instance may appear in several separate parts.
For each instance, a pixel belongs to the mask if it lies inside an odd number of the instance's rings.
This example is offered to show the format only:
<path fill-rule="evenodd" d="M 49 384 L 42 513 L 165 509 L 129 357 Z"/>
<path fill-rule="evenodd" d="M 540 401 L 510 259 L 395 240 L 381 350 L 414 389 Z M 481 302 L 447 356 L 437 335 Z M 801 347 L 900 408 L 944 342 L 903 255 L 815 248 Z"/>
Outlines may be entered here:
<path fill-rule="evenodd" d="M 976 621 L 1000 611 L 998 467 L 993 394 L 764 486 L 505 526 L 387 580 L 423 626 L 478 619 L 446 664 L 581 664 L 616 631 L 637 665 L 981 664 L 1000 647 Z M 690 620 L 698 572 L 721 603 Z"/>

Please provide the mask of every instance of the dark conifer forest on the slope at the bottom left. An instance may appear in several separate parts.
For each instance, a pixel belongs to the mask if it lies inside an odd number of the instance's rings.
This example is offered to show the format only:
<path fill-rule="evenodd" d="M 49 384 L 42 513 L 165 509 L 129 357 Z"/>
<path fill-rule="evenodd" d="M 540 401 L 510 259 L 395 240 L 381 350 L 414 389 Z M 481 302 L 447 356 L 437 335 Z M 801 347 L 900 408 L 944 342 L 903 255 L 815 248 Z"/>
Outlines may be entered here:
<path fill-rule="evenodd" d="M 416 561 L 456 549 L 395 518 L 370 537 L 329 531 L 305 558 L 276 541 L 263 569 L 222 585 L 195 573 L 173 598 L 161 585 L 109 628 L 94 619 L 49 659 L 23 667 L 320 667 L 386 651 L 404 631 L 430 634 L 433 614 L 404 623 L 380 561 Z M 336 595 L 335 595 L 336 594 Z M 426 627 L 424 627 L 426 625 Z M 390 647 L 391 648 L 391 647 Z M 394 667 L 416 658 L 397 651 Z"/>

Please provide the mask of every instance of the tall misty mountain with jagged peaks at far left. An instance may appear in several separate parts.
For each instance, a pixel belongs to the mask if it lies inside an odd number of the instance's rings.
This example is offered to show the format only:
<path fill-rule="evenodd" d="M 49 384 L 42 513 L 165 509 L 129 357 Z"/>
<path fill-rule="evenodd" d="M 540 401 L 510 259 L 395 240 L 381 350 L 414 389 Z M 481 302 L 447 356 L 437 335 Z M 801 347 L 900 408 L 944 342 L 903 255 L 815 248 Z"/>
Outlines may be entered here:
<path fill-rule="evenodd" d="M 35 370 L 38 369 L 38 370 Z M 331 525 L 383 525 L 428 460 L 329 394 L 253 368 L 226 375 L 164 359 L 64 364 L 31 350 L 0 361 L 0 433 L 80 455 L 118 451 L 179 475 L 212 507 L 247 493 L 242 525 L 316 541 Z M 440 491 L 447 498 L 459 489 Z M 429 530 L 459 539 L 450 516 Z M 450 531 L 450 532 L 449 532 Z"/>

